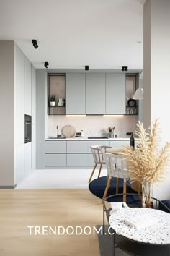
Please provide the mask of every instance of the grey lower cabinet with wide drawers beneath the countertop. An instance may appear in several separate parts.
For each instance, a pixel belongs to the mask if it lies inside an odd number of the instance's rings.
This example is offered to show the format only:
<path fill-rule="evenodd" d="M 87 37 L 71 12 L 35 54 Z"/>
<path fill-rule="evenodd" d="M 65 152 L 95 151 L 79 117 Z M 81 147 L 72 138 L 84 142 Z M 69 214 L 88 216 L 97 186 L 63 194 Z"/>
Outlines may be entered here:
<path fill-rule="evenodd" d="M 45 167 L 94 166 L 92 145 L 117 148 L 129 145 L 129 140 L 46 140 Z"/>

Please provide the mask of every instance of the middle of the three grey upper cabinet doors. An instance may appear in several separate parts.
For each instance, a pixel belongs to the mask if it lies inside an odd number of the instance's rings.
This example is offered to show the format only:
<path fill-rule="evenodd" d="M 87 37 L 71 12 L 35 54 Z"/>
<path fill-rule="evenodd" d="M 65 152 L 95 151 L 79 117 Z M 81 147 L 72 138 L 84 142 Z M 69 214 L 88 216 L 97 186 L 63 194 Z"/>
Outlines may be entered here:
<path fill-rule="evenodd" d="M 105 74 L 86 74 L 86 114 L 105 114 Z"/>

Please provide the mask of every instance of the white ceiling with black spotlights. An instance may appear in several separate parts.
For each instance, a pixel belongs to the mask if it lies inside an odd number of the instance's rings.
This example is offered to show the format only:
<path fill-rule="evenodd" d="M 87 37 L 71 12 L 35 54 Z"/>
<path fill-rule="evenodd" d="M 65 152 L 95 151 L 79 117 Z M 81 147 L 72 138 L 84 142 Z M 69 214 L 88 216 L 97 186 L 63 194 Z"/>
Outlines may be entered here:
<path fill-rule="evenodd" d="M 145 1 L 0 0 L 0 40 L 15 40 L 36 68 L 140 69 Z"/>

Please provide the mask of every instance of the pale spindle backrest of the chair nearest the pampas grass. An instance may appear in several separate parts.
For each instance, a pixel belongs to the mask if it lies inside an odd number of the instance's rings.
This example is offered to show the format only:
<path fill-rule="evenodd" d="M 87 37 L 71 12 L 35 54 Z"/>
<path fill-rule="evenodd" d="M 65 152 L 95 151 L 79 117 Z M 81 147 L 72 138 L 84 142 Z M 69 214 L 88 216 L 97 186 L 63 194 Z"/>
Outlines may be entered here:
<path fill-rule="evenodd" d="M 124 155 L 104 153 L 104 160 L 107 165 L 107 174 L 117 178 L 128 178 L 127 160 Z"/>

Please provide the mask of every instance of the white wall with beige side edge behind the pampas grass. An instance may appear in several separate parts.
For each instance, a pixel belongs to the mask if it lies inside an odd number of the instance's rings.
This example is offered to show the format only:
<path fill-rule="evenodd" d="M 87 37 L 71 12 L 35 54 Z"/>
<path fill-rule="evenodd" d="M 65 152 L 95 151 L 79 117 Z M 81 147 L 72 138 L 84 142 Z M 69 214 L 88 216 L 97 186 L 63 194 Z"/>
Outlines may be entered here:
<path fill-rule="evenodd" d="M 144 106 L 146 127 L 156 117 L 161 121 L 162 142 L 170 142 L 169 64 L 170 64 L 170 1 L 147 0 L 144 5 Z M 167 176 L 154 196 L 170 199 L 170 166 Z"/>

